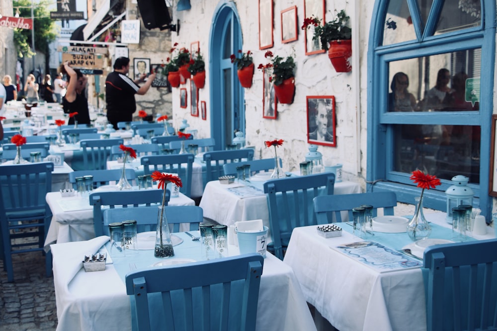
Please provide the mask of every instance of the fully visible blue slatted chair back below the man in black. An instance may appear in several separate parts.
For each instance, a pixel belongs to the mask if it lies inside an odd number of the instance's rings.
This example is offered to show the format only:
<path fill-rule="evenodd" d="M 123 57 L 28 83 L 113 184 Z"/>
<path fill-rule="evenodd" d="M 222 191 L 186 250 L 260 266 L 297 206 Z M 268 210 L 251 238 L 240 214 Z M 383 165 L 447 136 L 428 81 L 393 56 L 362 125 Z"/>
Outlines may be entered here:
<path fill-rule="evenodd" d="M 90 139 L 81 140 L 83 149 L 83 165 L 87 170 L 103 170 L 107 168 L 107 159 L 111 154 L 112 146 L 119 146 L 123 139 Z"/>

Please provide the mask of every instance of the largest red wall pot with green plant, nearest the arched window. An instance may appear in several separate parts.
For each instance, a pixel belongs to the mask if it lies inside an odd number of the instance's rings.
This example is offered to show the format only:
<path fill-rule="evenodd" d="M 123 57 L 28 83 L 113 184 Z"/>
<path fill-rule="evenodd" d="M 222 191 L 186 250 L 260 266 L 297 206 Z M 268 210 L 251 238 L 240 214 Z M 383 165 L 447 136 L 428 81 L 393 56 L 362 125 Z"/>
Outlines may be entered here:
<path fill-rule="evenodd" d="M 302 25 L 303 30 L 314 26 L 313 40 L 321 41 L 321 48 L 328 51 L 336 72 L 349 72 L 352 69 L 349 60 L 352 56 L 352 29 L 345 25 L 348 19 L 342 9 L 332 21 L 323 25 L 317 17 L 305 18 Z"/>

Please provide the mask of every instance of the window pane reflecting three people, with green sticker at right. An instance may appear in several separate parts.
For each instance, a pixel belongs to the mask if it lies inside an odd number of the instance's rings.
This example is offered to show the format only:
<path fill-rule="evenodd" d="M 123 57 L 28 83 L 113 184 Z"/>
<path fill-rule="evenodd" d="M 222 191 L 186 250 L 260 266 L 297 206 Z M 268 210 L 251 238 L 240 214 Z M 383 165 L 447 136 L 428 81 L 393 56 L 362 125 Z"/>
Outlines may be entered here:
<path fill-rule="evenodd" d="M 478 111 L 481 49 L 389 64 L 390 112 Z"/>

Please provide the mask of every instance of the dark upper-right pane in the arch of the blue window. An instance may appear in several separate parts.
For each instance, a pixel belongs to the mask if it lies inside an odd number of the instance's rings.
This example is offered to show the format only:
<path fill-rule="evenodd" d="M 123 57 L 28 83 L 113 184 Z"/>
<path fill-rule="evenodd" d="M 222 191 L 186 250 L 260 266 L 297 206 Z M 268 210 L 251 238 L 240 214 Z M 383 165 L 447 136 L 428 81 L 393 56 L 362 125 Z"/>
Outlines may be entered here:
<path fill-rule="evenodd" d="M 435 35 L 479 26 L 480 0 L 445 0 Z"/>

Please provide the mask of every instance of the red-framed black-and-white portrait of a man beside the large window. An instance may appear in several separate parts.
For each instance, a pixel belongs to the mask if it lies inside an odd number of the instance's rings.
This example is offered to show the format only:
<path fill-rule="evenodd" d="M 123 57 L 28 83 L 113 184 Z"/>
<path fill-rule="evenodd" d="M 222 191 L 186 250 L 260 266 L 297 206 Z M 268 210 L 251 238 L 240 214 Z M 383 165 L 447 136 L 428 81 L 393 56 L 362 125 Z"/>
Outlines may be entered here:
<path fill-rule="evenodd" d="M 307 96 L 307 142 L 336 147 L 335 97 Z"/>

